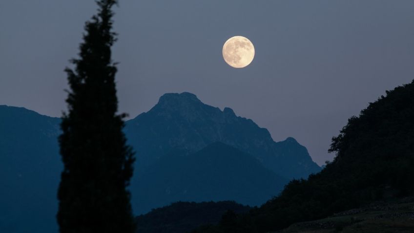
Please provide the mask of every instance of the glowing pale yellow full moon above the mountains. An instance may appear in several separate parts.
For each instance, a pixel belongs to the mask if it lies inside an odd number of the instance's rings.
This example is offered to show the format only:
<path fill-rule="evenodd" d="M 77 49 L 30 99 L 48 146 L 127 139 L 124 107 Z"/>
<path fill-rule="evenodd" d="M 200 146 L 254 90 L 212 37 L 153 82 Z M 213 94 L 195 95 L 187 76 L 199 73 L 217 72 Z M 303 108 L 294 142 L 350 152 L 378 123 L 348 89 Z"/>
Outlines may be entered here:
<path fill-rule="evenodd" d="M 235 36 L 223 45 L 223 58 L 234 68 L 243 68 L 253 61 L 254 46 L 246 37 Z"/>

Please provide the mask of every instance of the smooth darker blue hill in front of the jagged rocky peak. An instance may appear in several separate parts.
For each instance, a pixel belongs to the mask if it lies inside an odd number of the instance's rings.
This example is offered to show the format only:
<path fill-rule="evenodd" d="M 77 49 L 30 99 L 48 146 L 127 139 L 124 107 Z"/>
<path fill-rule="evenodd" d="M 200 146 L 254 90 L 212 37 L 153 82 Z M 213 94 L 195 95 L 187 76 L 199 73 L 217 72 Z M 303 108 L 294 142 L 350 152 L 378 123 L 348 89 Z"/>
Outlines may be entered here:
<path fill-rule="evenodd" d="M 175 201 L 261 205 L 287 183 L 251 155 L 217 142 L 189 155 L 164 156 L 137 178 L 132 191 L 135 204 L 148 212 Z"/>

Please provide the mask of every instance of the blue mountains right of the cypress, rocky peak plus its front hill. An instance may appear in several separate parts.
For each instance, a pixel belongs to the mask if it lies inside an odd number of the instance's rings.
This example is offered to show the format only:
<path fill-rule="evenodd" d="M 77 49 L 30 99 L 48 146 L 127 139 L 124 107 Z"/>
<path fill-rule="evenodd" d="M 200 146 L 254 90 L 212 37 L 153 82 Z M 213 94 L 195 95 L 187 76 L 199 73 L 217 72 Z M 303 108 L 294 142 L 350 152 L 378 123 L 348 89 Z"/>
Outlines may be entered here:
<path fill-rule="evenodd" d="M 137 152 L 136 174 L 131 182 L 137 213 L 178 200 L 230 198 L 241 204 L 260 205 L 277 195 L 288 180 L 320 171 L 307 149 L 295 139 L 276 143 L 266 128 L 236 116 L 228 107 L 222 111 L 203 104 L 188 92 L 161 96 L 148 112 L 126 122 L 125 134 Z M 211 158 L 221 161 L 206 163 Z M 232 169 L 234 177 L 228 176 L 226 169 Z M 219 174 L 224 176 L 220 178 Z M 192 179 L 186 180 L 185 175 Z M 200 184 L 202 187 L 197 188 Z"/>

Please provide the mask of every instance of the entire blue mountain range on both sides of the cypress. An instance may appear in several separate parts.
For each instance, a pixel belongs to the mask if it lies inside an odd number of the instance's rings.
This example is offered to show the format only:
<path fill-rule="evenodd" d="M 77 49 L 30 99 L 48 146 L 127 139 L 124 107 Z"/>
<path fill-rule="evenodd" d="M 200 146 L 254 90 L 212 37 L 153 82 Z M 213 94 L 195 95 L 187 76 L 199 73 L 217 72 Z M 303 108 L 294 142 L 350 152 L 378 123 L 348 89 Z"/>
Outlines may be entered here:
<path fill-rule="evenodd" d="M 60 121 L 0 106 L 0 232 L 57 232 Z M 274 142 L 253 121 L 186 92 L 163 95 L 124 131 L 137 151 L 130 187 L 136 213 L 175 201 L 260 205 L 291 178 L 320 170 L 293 138 Z"/>

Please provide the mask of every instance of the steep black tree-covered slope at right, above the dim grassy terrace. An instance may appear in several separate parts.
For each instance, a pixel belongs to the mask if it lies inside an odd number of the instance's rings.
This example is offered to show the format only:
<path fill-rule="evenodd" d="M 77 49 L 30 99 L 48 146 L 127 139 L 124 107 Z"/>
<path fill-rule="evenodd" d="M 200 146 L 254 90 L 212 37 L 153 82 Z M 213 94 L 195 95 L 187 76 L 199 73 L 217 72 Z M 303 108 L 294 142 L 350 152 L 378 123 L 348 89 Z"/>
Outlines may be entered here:
<path fill-rule="evenodd" d="M 201 232 L 264 233 L 414 194 L 414 83 L 387 91 L 332 139 L 334 161 L 258 210 Z"/>

